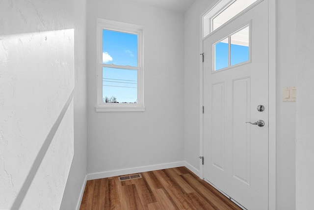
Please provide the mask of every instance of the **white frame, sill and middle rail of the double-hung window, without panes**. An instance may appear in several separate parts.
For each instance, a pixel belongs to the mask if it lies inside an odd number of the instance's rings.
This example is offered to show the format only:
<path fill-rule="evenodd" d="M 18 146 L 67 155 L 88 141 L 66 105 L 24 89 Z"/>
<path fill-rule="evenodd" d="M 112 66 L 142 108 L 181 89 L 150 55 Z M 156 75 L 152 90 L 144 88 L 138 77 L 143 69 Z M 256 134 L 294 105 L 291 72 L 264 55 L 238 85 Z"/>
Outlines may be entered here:
<path fill-rule="evenodd" d="M 103 30 L 137 34 L 137 66 L 103 63 Z M 96 112 L 144 112 L 143 27 L 97 18 L 97 105 Z M 103 103 L 103 67 L 137 70 L 137 103 Z"/>

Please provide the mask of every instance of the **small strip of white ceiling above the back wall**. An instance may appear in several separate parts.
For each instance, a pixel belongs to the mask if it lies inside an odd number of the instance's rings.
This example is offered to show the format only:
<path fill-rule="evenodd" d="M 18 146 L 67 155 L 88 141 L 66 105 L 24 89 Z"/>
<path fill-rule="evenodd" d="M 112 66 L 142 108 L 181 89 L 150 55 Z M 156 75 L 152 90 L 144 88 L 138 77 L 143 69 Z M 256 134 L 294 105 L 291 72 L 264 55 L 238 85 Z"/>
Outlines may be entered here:
<path fill-rule="evenodd" d="M 178 12 L 186 12 L 196 0 L 131 0 L 141 4 L 161 7 Z"/>

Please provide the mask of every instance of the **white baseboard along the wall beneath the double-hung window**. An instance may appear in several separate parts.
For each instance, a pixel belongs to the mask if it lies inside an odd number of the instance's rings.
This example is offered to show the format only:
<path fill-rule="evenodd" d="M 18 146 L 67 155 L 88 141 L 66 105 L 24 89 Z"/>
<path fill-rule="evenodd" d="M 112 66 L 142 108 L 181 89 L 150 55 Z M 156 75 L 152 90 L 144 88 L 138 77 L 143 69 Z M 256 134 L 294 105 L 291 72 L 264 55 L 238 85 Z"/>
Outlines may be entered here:
<path fill-rule="evenodd" d="M 105 172 L 87 174 L 87 180 L 103 179 L 103 178 L 108 178 L 108 177 L 116 177 L 116 176 L 122 176 L 126 174 L 142 173 L 142 172 L 147 172 L 147 171 L 155 171 L 155 170 L 175 168 L 175 167 L 181 167 L 181 166 L 185 166 L 184 161 L 121 169 L 121 170 L 115 170 L 115 171 L 105 171 Z"/>

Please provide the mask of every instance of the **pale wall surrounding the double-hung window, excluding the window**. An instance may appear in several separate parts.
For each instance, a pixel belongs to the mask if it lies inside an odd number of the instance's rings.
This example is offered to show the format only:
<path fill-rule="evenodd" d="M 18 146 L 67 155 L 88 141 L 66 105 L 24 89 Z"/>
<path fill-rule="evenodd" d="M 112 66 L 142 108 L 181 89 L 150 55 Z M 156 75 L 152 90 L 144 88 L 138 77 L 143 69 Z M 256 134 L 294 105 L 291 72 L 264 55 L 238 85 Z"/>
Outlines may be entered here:
<path fill-rule="evenodd" d="M 96 113 L 96 18 L 144 27 L 145 112 Z M 88 174 L 184 160 L 183 46 L 182 13 L 128 0 L 88 1 Z"/>

